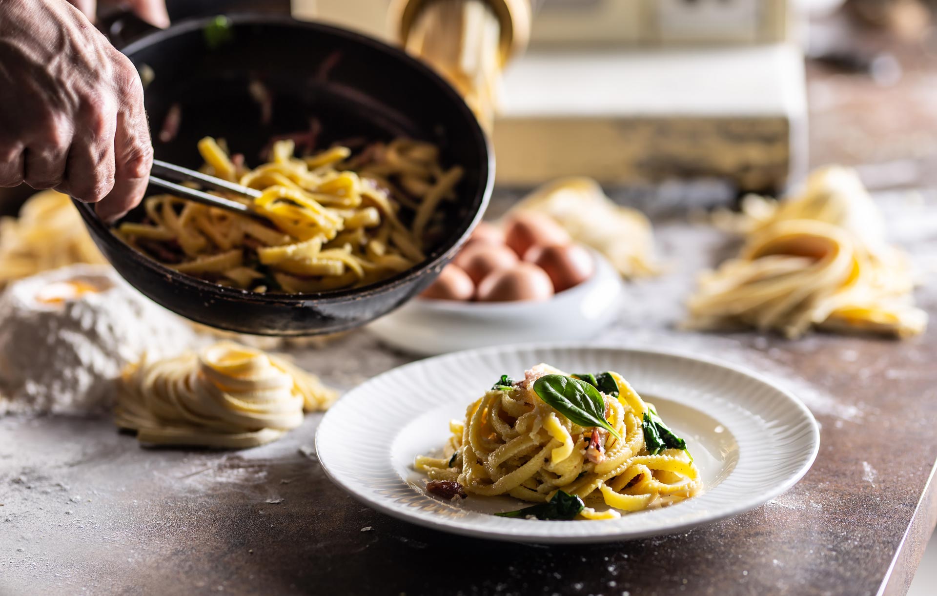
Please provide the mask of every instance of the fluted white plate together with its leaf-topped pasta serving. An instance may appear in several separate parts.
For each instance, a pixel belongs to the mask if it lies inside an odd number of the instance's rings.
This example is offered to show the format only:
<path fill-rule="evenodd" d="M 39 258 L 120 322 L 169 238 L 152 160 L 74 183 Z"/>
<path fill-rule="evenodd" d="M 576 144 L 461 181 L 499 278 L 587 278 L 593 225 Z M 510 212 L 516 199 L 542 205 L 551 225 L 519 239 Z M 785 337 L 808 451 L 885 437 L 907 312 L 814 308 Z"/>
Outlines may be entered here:
<path fill-rule="evenodd" d="M 819 440 L 795 396 L 734 365 L 513 345 L 365 381 L 326 412 L 316 453 L 335 484 L 414 524 L 606 543 L 758 507 L 803 476 Z"/>

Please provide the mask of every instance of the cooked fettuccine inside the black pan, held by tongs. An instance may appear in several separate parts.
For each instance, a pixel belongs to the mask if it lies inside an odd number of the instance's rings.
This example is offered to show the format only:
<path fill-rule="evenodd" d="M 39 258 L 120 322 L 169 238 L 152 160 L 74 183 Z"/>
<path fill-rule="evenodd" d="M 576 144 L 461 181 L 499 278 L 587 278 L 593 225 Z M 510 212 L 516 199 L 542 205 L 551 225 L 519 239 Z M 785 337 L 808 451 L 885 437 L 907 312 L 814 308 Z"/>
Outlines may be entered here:
<path fill-rule="evenodd" d="M 403 139 L 358 156 L 335 146 L 299 158 L 294 147 L 275 142 L 272 162 L 247 170 L 214 139 L 199 143 L 203 171 L 263 191 L 250 204 L 272 226 L 158 195 L 120 234 L 176 271 L 260 292 L 357 288 L 424 261 L 461 168 L 442 170 L 434 145 Z"/>

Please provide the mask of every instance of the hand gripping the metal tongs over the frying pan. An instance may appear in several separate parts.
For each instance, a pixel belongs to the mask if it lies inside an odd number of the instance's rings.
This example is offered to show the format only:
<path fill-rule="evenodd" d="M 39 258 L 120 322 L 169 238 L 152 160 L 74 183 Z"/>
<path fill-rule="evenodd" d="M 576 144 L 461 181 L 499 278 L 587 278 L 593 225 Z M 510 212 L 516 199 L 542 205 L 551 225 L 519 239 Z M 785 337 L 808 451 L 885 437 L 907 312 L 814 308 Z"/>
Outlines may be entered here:
<path fill-rule="evenodd" d="M 153 164 L 137 69 L 65 0 L 0 0 L 0 186 L 140 203 Z"/>

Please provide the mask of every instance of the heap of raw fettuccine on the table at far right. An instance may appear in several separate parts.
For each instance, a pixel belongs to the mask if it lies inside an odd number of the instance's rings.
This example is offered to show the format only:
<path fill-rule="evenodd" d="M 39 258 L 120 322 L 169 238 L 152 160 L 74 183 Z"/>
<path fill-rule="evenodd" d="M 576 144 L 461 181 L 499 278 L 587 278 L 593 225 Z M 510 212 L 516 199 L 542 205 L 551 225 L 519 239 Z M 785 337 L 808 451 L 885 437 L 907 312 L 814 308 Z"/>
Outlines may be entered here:
<path fill-rule="evenodd" d="M 689 327 L 904 337 L 927 326 L 907 257 L 885 243 L 882 216 L 855 171 L 815 171 L 803 194 L 781 203 L 749 197 L 729 223 L 747 234 L 745 246 L 700 277 Z"/>

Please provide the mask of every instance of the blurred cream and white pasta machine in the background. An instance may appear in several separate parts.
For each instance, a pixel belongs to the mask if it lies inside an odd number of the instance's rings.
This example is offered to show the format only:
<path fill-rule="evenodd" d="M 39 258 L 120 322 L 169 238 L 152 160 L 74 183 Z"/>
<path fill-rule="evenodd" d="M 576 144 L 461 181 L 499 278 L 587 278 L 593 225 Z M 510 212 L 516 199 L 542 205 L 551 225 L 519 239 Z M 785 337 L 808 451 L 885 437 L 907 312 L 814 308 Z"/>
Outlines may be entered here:
<path fill-rule="evenodd" d="M 293 0 L 299 18 L 406 43 L 421 10 L 486 4 L 505 65 L 498 183 L 720 179 L 777 191 L 806 166 L 803 57 L 787 0 Z M 453 32 L 452 35 L 456 35 Z"/>

